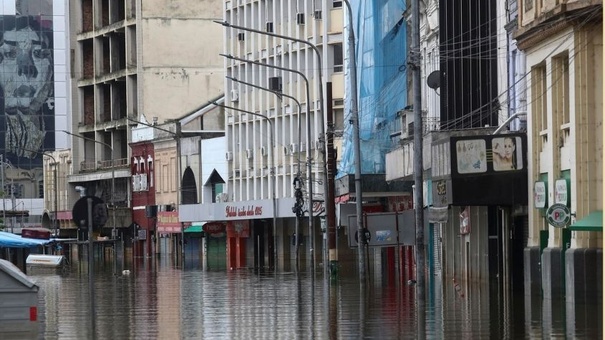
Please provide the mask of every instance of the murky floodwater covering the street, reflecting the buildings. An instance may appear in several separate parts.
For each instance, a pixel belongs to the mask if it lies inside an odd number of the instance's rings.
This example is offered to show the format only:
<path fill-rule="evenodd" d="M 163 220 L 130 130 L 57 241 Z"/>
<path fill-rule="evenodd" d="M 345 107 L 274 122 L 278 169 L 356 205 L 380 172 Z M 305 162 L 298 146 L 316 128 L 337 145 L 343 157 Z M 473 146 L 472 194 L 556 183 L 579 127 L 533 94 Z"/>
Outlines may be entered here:
<path fill-rule="evenodd" d="M 455 289 L 431 279 L 417 317 L 415 287 L 370 283 L 356 273 L 183 270 L 169 261 L 86 264 L 33 275 L 41 288 L 40 339 L 600 339 L 602 303 L 562 306 Z M 495 295 L 495 296 L 494 296 Z M 573 314 L 575 316 L 570 316 Z"/>

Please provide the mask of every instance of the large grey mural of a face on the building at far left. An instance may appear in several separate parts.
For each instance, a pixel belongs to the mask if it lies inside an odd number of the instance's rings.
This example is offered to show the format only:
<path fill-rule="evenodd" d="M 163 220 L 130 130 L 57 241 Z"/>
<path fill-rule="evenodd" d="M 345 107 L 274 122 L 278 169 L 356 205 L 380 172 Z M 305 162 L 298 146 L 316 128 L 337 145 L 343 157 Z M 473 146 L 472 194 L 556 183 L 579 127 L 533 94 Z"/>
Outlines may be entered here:
<path fill-rule="evenodd" d="M 11 20 L 12 19 L 12 20 Z M 0 42 L 0 86 L 4 99 L 6 151 L 31 158 L 45 135 L 45 115 L 53 109 L 50 34 L 34 17 L 4 17 Z"/>

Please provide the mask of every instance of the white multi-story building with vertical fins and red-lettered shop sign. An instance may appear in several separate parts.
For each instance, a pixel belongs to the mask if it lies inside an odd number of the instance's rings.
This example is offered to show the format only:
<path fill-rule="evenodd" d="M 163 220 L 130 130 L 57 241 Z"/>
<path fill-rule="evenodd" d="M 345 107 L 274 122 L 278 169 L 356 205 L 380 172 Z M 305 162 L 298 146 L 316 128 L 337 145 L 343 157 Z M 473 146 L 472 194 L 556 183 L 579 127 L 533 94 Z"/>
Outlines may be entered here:
<path fill-rule="evenodd" d="M 192 205 L 181 218 L 226 231 L 228 267 L 291 268 L 297 256 L 301 266 L 314 265 L 325 248 L 318 216 L 326 207 L 328 107 L 342 126 L 342 2 L 224 5 L 228 178 L 219 202 Z M 311 223 L 293 212 L 295 181 Z"/>

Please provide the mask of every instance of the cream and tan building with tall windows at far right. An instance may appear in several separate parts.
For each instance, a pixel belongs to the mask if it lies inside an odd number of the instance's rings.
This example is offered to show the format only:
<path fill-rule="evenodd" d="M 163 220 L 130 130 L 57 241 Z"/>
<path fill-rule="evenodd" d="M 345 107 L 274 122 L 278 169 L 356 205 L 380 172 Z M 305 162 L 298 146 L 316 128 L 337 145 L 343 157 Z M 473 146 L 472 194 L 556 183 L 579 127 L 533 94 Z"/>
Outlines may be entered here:
<path fill-rule="evenodd" d="M 518 4 L 529 141 L 526 287 L 553 305 L 563 297 L 590 303 L 603 288 L 602 1 Z"/>

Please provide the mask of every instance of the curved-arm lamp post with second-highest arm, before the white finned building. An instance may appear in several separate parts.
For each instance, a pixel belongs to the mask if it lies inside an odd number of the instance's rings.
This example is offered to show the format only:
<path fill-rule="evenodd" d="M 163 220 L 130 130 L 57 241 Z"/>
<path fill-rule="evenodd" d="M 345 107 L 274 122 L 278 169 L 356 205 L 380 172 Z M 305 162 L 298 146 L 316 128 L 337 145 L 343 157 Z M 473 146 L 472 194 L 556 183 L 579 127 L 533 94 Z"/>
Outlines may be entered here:
<path fill-rule="evenodd" d="M 285 67 L 281 67 L 281 66 L 275 66 L 275 65 L 271 65 L 271 64 L 265 64 L 265 63 L 261 63 L 258 61 L 254 61 L 254 60 L 247 60 L 247 59 L 243 59 L 243 58 L 238 58 L 235 56 L 232 56 L 230 54 L 220 54 L 221 56 L 228 58 L 228 59 L 233 59 L 233 60 L 237 60 L 240 62 L 244 62 L 244 63 L 250 63 L 253 65 L 258 65 L 258 66 L 264 66 L 264 67 L 269 67 L 269 68 L 273 68 L 276 70 L 280 70 L 280 71 L 285 71 L 285 72 L 292 72 L 292 73 L 296 73 L 298 74 L 304 81 L 305 81 L 305 89 L 306 89 L 306 93 L 307 93 L 307 181 L 308 181 L 308 196 L 309 196 L 309 238 L 311 239 L 311 268 L 313 270 L 313 272 L 315 272 L 315 222 L 313 220 L 313 168 L 312 168 L 312 164 L 311 164 L 311 95 L 310 95 L 310 91 L 309 91 L 309 79 L 307 79 L 307 76 L 305 76 L 304 73 L 298 71 L 298 70 L 294 70 L 294 69 L 289 69 L 289 68 L 285 68 Z M 280 93 L 281 94 L 281 93 Z M 300 106 L 299 106 L 300 107 Z M 298 137 L 300 140 L 300 129 L 301 129 L 301 124 L 300 124 L 300 112 L 299 112 L 299 120 L 298 120 L 298 128 L 299 128 L 299 133 L 298 133 Z M 322 124 L 323 127 L 323 124 Z M 298 144 L 300 145 L 300 143 Z M 300 154 L 300 152 L 299 152 Z M 325 162 L 324 162 L 325 164 Z M 324 188 L 326 188 L 327 185 L 327 179 L 326 179 L 326 173 L 324 171 Z M 324 191 L 325 194 L 325 191 Z"/>

